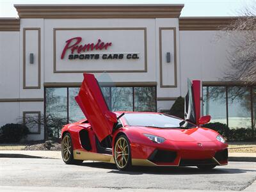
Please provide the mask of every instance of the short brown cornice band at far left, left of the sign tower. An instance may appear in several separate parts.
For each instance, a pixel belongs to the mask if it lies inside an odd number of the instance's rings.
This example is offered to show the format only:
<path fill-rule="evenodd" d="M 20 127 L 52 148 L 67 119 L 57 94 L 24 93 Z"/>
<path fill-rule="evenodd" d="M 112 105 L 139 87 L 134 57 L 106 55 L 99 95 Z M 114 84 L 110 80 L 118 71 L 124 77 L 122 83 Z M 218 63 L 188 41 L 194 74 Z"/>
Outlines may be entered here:
<path fill-rule="evenodd" d="M 20 31 L 20 19 L 0 18 L 0 31 Z"/>

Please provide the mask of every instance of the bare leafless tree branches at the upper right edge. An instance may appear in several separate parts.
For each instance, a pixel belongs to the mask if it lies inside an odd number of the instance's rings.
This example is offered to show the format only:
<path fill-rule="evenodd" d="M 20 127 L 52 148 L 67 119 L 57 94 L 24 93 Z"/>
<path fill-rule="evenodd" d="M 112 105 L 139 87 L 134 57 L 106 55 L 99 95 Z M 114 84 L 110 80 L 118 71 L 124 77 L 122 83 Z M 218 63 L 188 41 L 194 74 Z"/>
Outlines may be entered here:
<path fill-rule="evenodd" d="M 256 83 L 256 1 L 246 8 L 243 17 L 234 19 L 223 28 L 225 36 L 231 36 L 228 60 L 230 71 L 225 81 L 240 81 L 246 85 Z"/>

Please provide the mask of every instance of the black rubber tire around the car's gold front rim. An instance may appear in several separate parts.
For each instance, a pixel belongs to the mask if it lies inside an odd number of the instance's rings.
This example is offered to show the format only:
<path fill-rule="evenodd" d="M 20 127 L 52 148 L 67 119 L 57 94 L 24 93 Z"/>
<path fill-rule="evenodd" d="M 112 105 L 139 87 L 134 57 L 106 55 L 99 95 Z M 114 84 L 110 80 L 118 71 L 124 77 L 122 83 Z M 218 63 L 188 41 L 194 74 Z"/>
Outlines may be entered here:
<path fill-rule="evenodd" d="M 126 161 L 126 164 L 124 166 L 120 166 L 116 160 L 116 147 L 118 147 L 117 143 L 120 141 L 120 140 L 125 140 L 126 143 L 127 143 L 127 161 Z M 126 149 L 126 148 L 125 148 Z M 126 155 L 125 155 L 126 156 Z M 124 156 L 123 156 L 124 157 Z M 125 157 L 124 157 L 125 158 Z M 118 170 L 122 170 L 122 171 L 130 171 L 132 169 L 132 158 L 131 158 L 131 146 L 130 146 L 130 142 L 127 138 L 127 136 L 125 136 L 124 134 L 118 136 L 118 138 L 116 138 L 116 141 L 115 141 L 115 147 L 114 147 L 114 159 L 115 159 L 115 163 L 116 163 L 116 167 L 118 168 Z M 123 162 L 123 160 L 121 160 Z M 124 162 L 125 162 L 125 159 L 124 159 Z"/>

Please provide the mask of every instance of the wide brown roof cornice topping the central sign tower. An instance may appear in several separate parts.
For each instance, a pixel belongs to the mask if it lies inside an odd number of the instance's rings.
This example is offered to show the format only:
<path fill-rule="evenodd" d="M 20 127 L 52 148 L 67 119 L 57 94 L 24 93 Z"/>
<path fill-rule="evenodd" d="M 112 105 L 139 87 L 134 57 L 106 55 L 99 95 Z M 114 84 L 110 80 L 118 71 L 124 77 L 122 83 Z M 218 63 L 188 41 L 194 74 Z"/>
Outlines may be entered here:
<path fill-rule="evenodd" d="M 177 18 L 184 4 L 15 4 L 20 19 Z"/>

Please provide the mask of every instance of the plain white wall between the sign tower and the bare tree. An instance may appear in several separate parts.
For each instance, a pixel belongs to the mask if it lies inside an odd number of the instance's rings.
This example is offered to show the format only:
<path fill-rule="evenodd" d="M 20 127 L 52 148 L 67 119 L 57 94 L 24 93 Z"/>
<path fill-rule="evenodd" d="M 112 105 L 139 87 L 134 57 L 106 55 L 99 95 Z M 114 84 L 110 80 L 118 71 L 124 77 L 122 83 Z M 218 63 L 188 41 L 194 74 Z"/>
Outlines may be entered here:
<path fill-rule="evenodd" d="M 187 79 L 220 81 L 228 70 L 228 39 L 220 31 L 180 31 L 180 88 L 187 92 Z"/>

